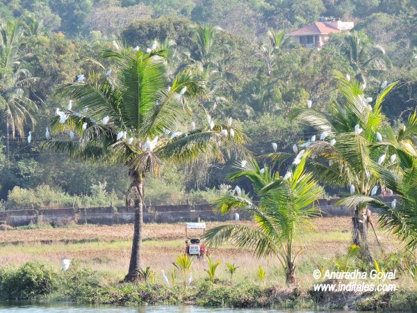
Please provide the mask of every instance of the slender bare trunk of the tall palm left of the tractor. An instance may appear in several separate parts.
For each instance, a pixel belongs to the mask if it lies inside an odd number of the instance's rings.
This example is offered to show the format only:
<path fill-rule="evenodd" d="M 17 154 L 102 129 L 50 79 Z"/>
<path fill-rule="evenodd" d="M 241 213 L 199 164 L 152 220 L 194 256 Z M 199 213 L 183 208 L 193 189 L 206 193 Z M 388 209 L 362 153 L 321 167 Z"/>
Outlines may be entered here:
<path fill-rule="evenodd" d="M 131 259 L 129 263 L 129 272 L 124 277 L 125 282 L 138 280 L 138 271 L 142 267 L 142 227 L 143 227 L 143 181 L 142 173 L 135 171 L 133 175 L 134 188 L 138 193 L 138 200 L 135 201 L 135 224 L 133 228 L 133 243 L 131 251 Z"/>

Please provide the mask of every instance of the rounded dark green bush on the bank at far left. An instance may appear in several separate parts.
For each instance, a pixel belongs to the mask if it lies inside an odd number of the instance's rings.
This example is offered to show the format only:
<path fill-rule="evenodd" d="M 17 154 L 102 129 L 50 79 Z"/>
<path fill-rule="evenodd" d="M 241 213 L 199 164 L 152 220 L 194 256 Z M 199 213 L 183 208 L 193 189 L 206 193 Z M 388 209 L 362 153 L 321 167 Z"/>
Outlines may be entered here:
<path fill-rule="evenodd" d="M 0 298 L 33 299 L 56 291 L 57 273 L 41 262 L 27 262 L 19 268 L 0 269 Z"/>

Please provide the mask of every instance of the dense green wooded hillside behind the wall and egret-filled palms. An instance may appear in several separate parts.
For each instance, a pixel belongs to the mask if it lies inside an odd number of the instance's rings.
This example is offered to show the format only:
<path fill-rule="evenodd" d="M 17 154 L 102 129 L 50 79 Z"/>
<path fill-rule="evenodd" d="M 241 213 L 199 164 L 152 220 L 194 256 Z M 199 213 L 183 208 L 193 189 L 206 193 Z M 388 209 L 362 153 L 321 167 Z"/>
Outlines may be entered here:
<path fill-rule="evenodd" d="M 376 53 L 376 47 L 382 47 L 387 61 L 383 70 L 371 69 L 366 58 L 352 60 L 354 51 L 348 34 L 332 35 L 320 51 L 279 39 L 279 31 L 288 33 L 316 22 L 320 16 L 354 21 L 354 31 L 360 32 L 363 42 L 363 49 L 356 52 Z M 0 19 L 4 25 L 8 22 L 10 26 L 13 19 L 20 23 L 19 40 L 13 49 L 9 49 L 7 40 L 1 42 L 1 54 L 12 51 L 14 61 L 7 67 L 1 65 L 0 97 L 14 95 L 17 99 L 19 95 L 14 108 L 18 104 L 26 110 L 25 119 L 13 114 L 18 123 L 15 133 L 9 127 L 10 159 L 6 120 L 0 118 L 0 199 L 7 201 L 11 192 L 8 208 L 55 205 L 42 201 L 50 190 L 62 199 L 56 202 L 62 207 L 124 202 L 129 186 L 125 170 L 69 161 L 66 154 L 40 150 L 56 108 L 63 110 L 67 105 L 52 97 L 56 86 L 74 81 L 81 73 L 88 77 L 88 72 L 102 71 L 90 58 L 100 59 L 102 49 L 110 48 L 111 41 L 119 38 L 131 47 L 138 45 L 141 51 L 157 40 L 158 47 L 167 49 L 170 81 L 187 66 L 199 68 L 208 92 L 195 99 L 190 109 L 197 112 L 197 107 L 204 108 L 215 121 L 231 115 L 252 139 L 247 147 L 256 155 L 272 152 L 272 141 L 279 151 L 289 152 L 293 143 L 311 137 L 311 128 L 288 116 L 307 99 L 312 99 L 319 111 L 328 111 L 337 97 L 334 70 L 366 77 L 366 94 L 370 97 L 377 95 L 382 81 L 399 81 L 382 107 L 393 127 L 407 120 L 416 108 L 415 1 L 15 0 L 0 1 Z M 206 25 L 221 29 L 200 27 Z M 114 66 L 111 60 L 103 62 L 106 68 Z M 23 84 L 19 82 L 22 79 Z M 13 84 L 22 92 L 9 93 L 17 90 Z M 0 112 L 5 108 L 0 104 Z M 76 102 L 74 109 L 82 110 Z M 204 114 L 195 114 L 197 125 L 204 124 Z M 30 145 L 28 131 L 33 131 Z M 208 202 L 224 190 L 220 185 L 230 170 L 229 161 L 220 166 L 198 161 L 170 168 L 161 175 L 158 188 L 156 180 L 149 177 L 146 202 L 179 203 L 188 198 Z M 238 183 L 251 190 L 247 182 Z M 103 202 L 94 194 L 94 186 L 100 184 L 107 195 L 115 198 Z M 33 191 L 26 196 L 23 189 Z M 327 192 L 334 195 L 339 190 Z"/>

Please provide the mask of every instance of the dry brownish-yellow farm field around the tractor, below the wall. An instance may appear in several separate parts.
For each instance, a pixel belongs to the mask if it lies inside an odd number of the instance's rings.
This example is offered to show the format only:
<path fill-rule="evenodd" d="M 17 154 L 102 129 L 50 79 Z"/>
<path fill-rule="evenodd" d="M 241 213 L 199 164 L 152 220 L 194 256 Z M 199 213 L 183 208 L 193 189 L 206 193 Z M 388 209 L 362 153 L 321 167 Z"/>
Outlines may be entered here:
<path fill-rule="evenodd" d="M 234 223 L 234 222 L 230 222 Z M 251 222 L 239 222 L 247 223 Z M 331 259 L 344 254 L 350 244 L 350 218 L 316 218 L 316 230 L 307 236 L 309 246 L 300 255 L 296 270 L 300 284 L 311 285 L 311 273 L 320 266 L 330 266 Z M 207 223 L 215 227 L 219 223 Z M 60 267 L 61 257 L 76 260 L 81 266 L 90 266 L 106 273 L 109 281 L 119 280 L 129 266 L 133 225 L 72 225 L 60 228 L 17 228 L 0 232 L 0 263 L 24 264 L 28 261 L 43 261 Z M 377 228 L 377 236 L 384 252 L 400 248 L 395 238 Z M 375 253 L 380 253 L 375 235 L 371 235 Z M 183 224 L 145 224 L 143 243 L 144 266 L 156 272 L 161 280 L 162 269 L 170 273 L 171 262 L 184 251 L 185 226 Z M 238 268 L 236 280 L 256 280 L 259 265 L 265 268 L 268 284 L 284 283 L 284 273 L 277 259 L 256 259 L 252 252 L 227 245 L 212 248 L 213 259 L 222 264 L 218 270 L 220 279 L 227 279 L 225 263 L 234 263 Z M 193 274 L 196 279 L 206 276 L 206 261 L 195 261 Z"/>

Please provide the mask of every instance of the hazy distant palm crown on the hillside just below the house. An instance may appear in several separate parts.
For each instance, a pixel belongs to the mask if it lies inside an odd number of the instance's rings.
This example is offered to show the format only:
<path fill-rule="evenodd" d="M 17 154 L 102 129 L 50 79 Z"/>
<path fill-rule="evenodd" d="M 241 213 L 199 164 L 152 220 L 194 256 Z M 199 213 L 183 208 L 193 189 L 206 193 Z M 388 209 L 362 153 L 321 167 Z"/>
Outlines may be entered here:
<path fill-rule="evenodd" d="M 365 84 L 367 79 L 376 79 L 391 66 L 384 48 L 375 45 L 364 33 L 354 31 L 347 35 L 344 47 L 347 61 L 356 72 L 356 79 Z"/>

